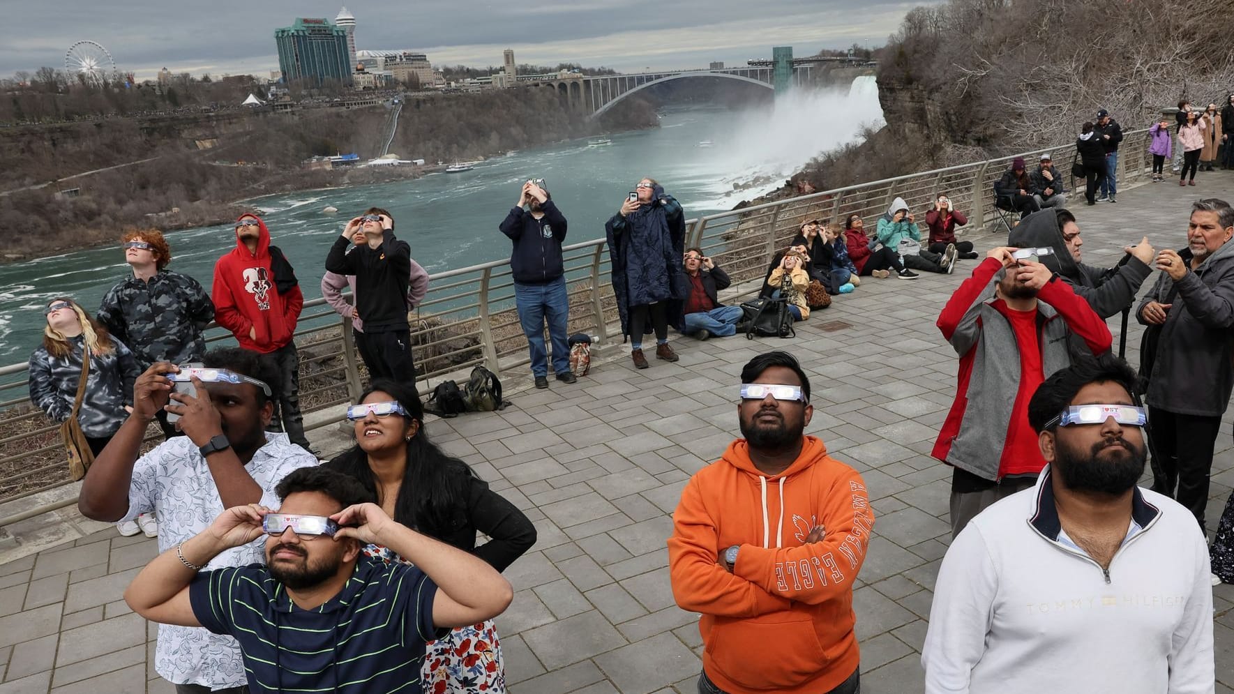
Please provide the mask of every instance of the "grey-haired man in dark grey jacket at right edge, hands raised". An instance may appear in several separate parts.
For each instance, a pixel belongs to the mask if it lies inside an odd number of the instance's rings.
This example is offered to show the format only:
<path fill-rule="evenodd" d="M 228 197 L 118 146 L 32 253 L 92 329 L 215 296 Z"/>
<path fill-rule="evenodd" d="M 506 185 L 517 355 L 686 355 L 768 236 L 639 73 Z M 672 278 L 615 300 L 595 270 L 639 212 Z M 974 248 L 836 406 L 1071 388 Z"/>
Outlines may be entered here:
<path fill-rule="evenodd" d="M 1148 380 L 1153 489 L 1177 499 L 1204 527 L 1208 473 L 1234 389 L 1234 207 L 1191 206 L 1187 247 L 1157 253 L 1161 277 L 1135 316 L 1148 326 L 1140 378 Z"/>

